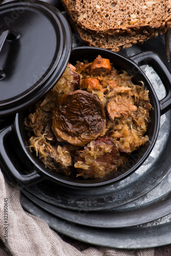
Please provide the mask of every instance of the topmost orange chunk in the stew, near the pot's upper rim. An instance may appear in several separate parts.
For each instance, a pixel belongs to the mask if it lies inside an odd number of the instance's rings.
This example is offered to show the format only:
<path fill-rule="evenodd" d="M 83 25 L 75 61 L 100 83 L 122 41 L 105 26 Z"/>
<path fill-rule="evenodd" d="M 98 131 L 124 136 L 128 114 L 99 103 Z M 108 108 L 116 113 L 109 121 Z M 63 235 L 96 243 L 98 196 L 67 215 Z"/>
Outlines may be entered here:
<path fill-rule="evenodd" d="M 109 59 L 102 58 L 100 55 L 92 62 L 90 72 L 92 75 L 100 75 L 100 73 L 109 73 L 111 70 L 111 63 Z"/>

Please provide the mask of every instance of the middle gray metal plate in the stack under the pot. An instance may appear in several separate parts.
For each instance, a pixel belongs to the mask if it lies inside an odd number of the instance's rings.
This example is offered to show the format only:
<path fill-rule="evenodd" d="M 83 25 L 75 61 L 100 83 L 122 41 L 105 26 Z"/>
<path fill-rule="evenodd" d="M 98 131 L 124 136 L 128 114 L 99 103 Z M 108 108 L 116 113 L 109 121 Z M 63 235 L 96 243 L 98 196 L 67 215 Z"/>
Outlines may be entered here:
<path fill-rule="evenodd" d="M 63 220 L 99 228 L 120 228 L 144 224 L 171 213 L 171 173 L 145 196 L 124 206 L 101 211 L 81 211 L 61 208 L 38 199 L 26 189 L 22 194 L 31 202 Z"/>

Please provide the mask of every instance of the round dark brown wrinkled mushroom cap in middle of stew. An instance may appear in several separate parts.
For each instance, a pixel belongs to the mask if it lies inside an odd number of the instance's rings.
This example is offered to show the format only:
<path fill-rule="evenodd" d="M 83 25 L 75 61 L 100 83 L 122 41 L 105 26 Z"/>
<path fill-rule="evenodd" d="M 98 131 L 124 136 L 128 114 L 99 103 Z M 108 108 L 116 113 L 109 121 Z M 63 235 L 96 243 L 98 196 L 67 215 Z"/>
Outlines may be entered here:
<path fill-rule="evenodd" d="M 100 99 L 86 91 L 62 94 L 53 110 L 55 135 L 73 145 L 85 145 L 104 135 L 105 124 Z"/>

